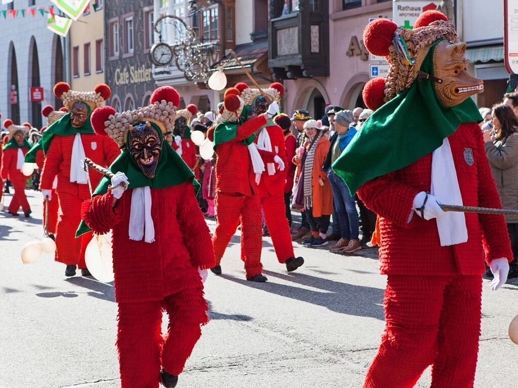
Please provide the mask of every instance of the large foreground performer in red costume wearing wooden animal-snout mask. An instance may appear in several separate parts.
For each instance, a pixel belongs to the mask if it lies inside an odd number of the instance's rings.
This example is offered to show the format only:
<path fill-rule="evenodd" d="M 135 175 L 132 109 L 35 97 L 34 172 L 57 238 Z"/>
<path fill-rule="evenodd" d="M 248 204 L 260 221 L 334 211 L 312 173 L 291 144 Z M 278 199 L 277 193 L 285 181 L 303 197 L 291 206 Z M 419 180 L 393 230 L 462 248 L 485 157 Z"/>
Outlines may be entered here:
<path fill-rule="evenodd" d="M 414 29 L 370 23 L 367 49 L 386 56 L 387 79 L 364 89 L 377 111 L 333 169 L 380 222 L 386 329 L 364 387 L 411 387 L 431 368 L 431 387 L 473 386 L 484 256 L 497 290 L 512 252 L 501 215 L 444 212 L 439 204 L 501 208 L 470 95 L 466 44 L 438 11 Z"/>

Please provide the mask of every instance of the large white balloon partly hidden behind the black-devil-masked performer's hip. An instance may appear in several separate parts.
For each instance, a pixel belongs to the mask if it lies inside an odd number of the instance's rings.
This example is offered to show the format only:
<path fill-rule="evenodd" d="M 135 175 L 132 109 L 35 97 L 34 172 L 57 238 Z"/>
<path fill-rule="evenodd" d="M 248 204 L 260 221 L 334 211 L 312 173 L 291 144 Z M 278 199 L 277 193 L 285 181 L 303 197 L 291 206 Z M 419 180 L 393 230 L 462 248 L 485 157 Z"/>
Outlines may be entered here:
<path fill-rule="evenodd" d="M 94 278 L 103 283 L 109 283 L 113 275 L 113 257 L 111 247 L 111 232 L 94 234 L 84 252 L 84 261 Z"/>

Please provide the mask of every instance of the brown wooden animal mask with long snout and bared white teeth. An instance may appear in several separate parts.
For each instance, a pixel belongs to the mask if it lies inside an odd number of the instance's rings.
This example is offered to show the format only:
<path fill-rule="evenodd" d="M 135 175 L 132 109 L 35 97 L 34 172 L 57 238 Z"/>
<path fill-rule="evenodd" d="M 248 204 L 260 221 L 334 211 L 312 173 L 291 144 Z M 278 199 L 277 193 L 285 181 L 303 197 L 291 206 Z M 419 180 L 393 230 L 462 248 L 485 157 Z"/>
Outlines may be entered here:
<path fill-rule="evenodd" d="M 437 97 L 445 107 L 454 107 L 468 97 L 482 93 L 484 83 L 466 71 L 466 43 L 442 41 L 434 51 L 434 75 L 442 80 L 435 83 Z"/>

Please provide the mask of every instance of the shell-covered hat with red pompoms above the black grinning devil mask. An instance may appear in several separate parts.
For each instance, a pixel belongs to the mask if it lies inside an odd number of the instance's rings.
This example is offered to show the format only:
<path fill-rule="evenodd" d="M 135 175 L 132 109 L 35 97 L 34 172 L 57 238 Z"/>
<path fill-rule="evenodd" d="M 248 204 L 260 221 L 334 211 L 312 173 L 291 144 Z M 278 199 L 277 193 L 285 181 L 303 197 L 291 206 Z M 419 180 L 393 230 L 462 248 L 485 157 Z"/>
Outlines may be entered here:
<path fill-rule="evenodd" d="M 151 105 L 147 107 L 121 113 L 109 106 L 97 108 L 90 117 L 92 127 L 98 135 L 109 136 L 122 147 L 126 144 L 127 131 L 133 124 L 150 122 L 160 128 L 164 139 L 171 144 L 180 95 L 170 86 L 161 86 L 153 92 L 150 102 Z"/>

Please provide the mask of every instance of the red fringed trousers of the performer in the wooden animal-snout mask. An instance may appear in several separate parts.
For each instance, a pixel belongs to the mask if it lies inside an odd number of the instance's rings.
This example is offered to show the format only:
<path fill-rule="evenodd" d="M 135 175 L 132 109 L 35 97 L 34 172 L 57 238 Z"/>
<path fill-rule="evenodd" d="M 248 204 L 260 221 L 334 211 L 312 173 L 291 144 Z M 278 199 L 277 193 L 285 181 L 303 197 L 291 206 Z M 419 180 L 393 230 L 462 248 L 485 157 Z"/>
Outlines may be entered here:
<path fill-rule="evenodd" d="M 389 275 L 385 333 L 364 388 L 410 388 L 428 365 L 431 388 L 471 388 L 481 318 L 480 275 Z"/>

